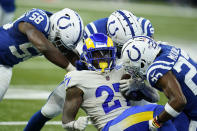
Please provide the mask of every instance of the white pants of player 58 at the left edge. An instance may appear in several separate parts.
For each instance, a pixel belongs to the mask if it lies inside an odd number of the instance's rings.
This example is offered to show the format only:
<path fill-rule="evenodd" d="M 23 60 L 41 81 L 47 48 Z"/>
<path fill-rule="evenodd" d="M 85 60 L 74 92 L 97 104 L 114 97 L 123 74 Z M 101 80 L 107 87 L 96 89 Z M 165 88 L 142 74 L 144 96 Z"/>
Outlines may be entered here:
<path fill-rule="evenodd" d="M 12 77 L 12 67 L 0 65 L 0 101 L 8 90 Z"/>

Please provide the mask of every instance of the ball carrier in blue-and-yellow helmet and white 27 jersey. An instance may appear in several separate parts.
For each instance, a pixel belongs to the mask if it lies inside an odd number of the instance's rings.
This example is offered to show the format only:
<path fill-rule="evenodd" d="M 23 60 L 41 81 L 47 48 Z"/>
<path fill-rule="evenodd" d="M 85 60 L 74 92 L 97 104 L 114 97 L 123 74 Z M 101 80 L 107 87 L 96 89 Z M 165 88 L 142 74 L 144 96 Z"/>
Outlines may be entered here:
<path fill-rule="evenodd" d="M 116 47 L 106 35 L 93 34 L 85 40 L 82 55 L 88 70 L 71 71 L 64 79 L 64 129 L 84 130 L 88 118 L 102 131 L 148 131 L 152 128 L 149 120 L 158 115 L 163 107 L 156 104 L 130 107 L 119 90 L 123 71 L 116 67 L 115 53 Z M 75 120 L 80 107 L 88 117 Z M 161 131 L 176 131 L 176 127 L 168 121 Z"/>

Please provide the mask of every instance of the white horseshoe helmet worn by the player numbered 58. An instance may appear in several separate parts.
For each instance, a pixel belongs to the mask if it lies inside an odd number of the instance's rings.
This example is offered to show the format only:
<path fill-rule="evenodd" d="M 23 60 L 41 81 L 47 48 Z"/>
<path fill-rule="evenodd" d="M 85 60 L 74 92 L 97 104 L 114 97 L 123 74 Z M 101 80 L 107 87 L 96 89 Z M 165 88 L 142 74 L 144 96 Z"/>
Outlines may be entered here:
<path fill-rule="evenodd" d="M 82 38 L 83 28 L 79 14 L 65 8 L 50 17 L 49 40 L 60 50 L 74 49 Z"/>

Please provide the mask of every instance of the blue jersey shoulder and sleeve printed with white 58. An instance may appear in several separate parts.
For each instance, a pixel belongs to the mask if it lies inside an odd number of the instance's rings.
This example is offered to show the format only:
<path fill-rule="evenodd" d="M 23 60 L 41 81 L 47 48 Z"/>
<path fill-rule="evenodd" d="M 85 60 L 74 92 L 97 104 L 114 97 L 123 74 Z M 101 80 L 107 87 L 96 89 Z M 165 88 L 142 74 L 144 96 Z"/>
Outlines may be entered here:
<path fill-rule="evenodd" d="M 45 36 L 48 36 L 50 27 L 48 15 L 50 15 L 50 13 L 44 10 L 32 9 L 17 19 L 15 24 L 18 27 L 20 22 L 28 22 L 32 24 L 37 30 L 42 32 Z"/>

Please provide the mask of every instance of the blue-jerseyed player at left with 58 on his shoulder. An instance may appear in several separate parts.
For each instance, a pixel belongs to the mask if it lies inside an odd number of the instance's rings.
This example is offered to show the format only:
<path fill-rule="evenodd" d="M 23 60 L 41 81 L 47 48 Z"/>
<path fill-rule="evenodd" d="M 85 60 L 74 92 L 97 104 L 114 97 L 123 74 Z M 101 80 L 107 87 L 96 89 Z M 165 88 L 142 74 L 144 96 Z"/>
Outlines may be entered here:
<path fill-rule="evenodd" d="M 54 14 L 32 9 L 13 23 L 1 26 L 0 100 L 9 87 L 12 68 L 29 58 L 44 55 L 57 66 L 72 70 L 74 67 L 68 60 L 78 58 L 72 49 L 80 40 L 82 30 L 82 19 L 68 8 Z M 70 53 L 72 58 L 68 57 Z"/>

